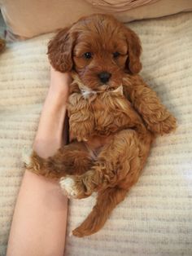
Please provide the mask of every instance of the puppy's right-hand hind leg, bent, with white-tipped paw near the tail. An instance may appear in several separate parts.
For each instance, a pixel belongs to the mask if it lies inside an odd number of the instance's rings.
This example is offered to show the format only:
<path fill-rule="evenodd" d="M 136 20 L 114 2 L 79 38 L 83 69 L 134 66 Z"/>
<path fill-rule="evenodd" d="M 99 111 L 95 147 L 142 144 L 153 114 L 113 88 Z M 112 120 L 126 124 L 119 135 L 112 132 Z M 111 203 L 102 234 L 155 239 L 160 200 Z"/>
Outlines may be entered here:
<path fill-rule="evenodd" d="M 99 153 L 97 161 L 85 174 L 68 175 L 60 185 L 69 197 L 85 198 L 92 192 L 115 187 L 129 174 L 137 176 L 150 146 L 142 149 L 135 130 L 121 130 Z"/>

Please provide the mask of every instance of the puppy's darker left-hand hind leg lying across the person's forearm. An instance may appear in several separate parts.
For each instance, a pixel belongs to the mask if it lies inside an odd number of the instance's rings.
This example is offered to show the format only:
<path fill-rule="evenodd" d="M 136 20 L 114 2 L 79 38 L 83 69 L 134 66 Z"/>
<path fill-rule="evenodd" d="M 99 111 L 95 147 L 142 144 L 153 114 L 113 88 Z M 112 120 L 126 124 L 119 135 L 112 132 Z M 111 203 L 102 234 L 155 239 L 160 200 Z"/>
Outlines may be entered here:
<path fill-rule="evenodd" d="M 28 170 L 46 178 L 60 179 L 66 174 L 83 174 L 93 165 L 84 143 L 70 143 L 55 153 L 53 157 L 42 158 L 33 152 Z"/>

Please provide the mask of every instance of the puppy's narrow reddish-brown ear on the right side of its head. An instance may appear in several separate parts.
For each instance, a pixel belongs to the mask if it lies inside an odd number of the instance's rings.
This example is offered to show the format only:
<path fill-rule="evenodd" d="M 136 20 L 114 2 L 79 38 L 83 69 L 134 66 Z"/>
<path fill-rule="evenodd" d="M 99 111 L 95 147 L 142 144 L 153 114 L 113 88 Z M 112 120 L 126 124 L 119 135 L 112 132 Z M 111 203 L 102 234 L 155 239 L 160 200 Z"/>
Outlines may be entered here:
<path fill-rule="evenodd" d="M 140 55 L 142 53 L 142 46 L 140 39 L 137 34 L 131 29 L 126 29 L 127 43 L 129 56 L 126 62 L 127 68 L 133 74 L 139 73 L 142 69 L 142 64 L 140 62 Z"/>

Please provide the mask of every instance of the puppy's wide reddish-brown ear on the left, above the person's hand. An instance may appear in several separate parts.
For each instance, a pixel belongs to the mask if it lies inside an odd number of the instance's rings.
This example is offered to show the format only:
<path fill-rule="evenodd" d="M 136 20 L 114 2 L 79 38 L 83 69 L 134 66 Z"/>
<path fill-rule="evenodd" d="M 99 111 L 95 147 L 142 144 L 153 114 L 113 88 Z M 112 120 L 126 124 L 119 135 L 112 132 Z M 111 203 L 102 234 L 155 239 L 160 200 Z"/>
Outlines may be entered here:
<path fill-rule="evenodd" d="M 75 34 L 70 28 L 62 29 L 48 44 L 50 64 L 64 73 L 72 70 L 72 48 L 75 43 Z"/>

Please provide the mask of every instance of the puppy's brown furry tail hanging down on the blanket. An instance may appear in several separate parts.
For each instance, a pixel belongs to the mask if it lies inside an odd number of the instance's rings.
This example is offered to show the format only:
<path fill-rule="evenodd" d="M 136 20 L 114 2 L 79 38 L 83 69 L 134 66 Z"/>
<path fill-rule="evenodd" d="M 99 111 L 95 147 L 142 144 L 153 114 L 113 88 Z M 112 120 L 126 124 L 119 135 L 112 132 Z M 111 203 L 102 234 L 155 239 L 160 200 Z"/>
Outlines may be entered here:
<path fill-rule="evenodd" d="M 81 224 L 72 231 L 74 236 L 89 236 L 98 232 L 107 221 L 111 211 L 124 200 L 127 191 L 121 188 L 107 188 L 103 192 L 98 192 L 97 203 L 93 210 Z"/>

